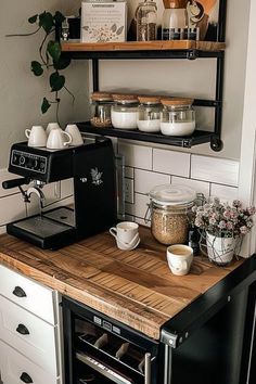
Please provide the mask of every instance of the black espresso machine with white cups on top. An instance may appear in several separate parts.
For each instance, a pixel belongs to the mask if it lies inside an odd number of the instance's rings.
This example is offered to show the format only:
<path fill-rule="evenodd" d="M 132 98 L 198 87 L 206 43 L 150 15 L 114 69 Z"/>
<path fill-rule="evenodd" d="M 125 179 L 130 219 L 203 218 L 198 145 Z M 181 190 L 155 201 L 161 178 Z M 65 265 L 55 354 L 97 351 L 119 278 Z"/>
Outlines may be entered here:
<path fill-rule="evenodd" d="M 35 193 L 41 207 L 35 216 L 8 223 L 7 232 L 16 238 L 56 249 L 116 223 L 115 157 L 107 138 L 90 136 L 82 145 L 63 150 L 13 144 L 9 171 L 23 178 L 4 181 L 3 188 L 18 187 L 27 203 Z M 46 210 L 43 185 L 69 178 L 74 204 Z M 29 184 L 26 191 L 23 184 Z"/>

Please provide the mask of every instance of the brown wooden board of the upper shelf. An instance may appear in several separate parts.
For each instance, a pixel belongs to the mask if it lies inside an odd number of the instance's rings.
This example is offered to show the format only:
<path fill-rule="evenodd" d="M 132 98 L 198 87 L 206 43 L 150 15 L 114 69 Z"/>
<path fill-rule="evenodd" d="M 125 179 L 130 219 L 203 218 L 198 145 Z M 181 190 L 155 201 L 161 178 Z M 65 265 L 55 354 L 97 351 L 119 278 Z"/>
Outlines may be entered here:
<path fill-rule="evenodd" d="M 225 42 L 194 40 L 155 40 L 126 42 L 62 42 L 63 52 L 102 52 L 102 51 L 168 51 L 168 50 L 201 50 L 221 51 Z"/>

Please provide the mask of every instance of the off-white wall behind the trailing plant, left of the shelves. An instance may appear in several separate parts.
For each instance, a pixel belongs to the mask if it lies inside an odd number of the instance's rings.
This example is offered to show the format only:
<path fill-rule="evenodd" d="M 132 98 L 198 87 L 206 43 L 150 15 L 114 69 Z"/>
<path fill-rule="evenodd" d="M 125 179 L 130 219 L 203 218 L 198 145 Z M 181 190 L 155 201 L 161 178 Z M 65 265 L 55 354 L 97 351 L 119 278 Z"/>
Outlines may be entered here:
<path fill-rule="evenodd" d="M 72 3 L 72 5 L 71 5 Z M 31 125 L 55 120 L 54 108 L 46 115 L 40 112 L 47 95 L 48 79 L 36 78 L 30 61 L 38 59 L 40 36 L 7 38 L 7 34 L 29 33 L 35 26 L 27 18 L 44 10 L 60 10 L 64 14 L 77 12 L 80 1 L 73 0 L 1 0 L 0 4 L 0 168 L 8 165 L 10 146 L 25 140 L 24 130 Z M 66 84 L 76 95 L 75 105 L 67 95 L 61 95 L 61 123 L 86 118 L 88 111 L 87 62 L 74 62 L 65 71 Z M 64 72 L 63 72 L 64 74 Z M 61 92 L 61 94 L 63 94 Z M 48 94 L 49 95 L 49 94 Z M 51 95 L 49 95 L 51 97 Z"/>

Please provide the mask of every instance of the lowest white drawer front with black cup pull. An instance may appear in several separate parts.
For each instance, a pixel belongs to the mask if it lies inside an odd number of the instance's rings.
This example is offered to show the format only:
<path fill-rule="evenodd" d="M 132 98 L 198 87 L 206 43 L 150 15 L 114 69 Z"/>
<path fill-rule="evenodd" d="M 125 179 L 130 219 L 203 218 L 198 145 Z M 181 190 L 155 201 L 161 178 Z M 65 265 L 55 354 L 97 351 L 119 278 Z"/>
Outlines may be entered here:
<path fill-rule="evenodd" d="M 3 384 L 56 384 L 57 379 L 0 342 L 0 370 Z"/>

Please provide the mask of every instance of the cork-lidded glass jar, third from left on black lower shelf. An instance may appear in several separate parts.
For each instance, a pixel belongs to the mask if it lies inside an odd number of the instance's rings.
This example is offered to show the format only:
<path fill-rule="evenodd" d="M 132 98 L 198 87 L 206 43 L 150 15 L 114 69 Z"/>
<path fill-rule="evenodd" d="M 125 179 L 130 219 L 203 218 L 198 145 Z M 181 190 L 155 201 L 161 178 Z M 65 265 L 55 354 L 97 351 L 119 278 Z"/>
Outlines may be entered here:
<path fill-rule="evenodd" d="M 157 97 L 138 97 L 137 126 L 143 132 L 159 132 L 162 104 Z"/>

